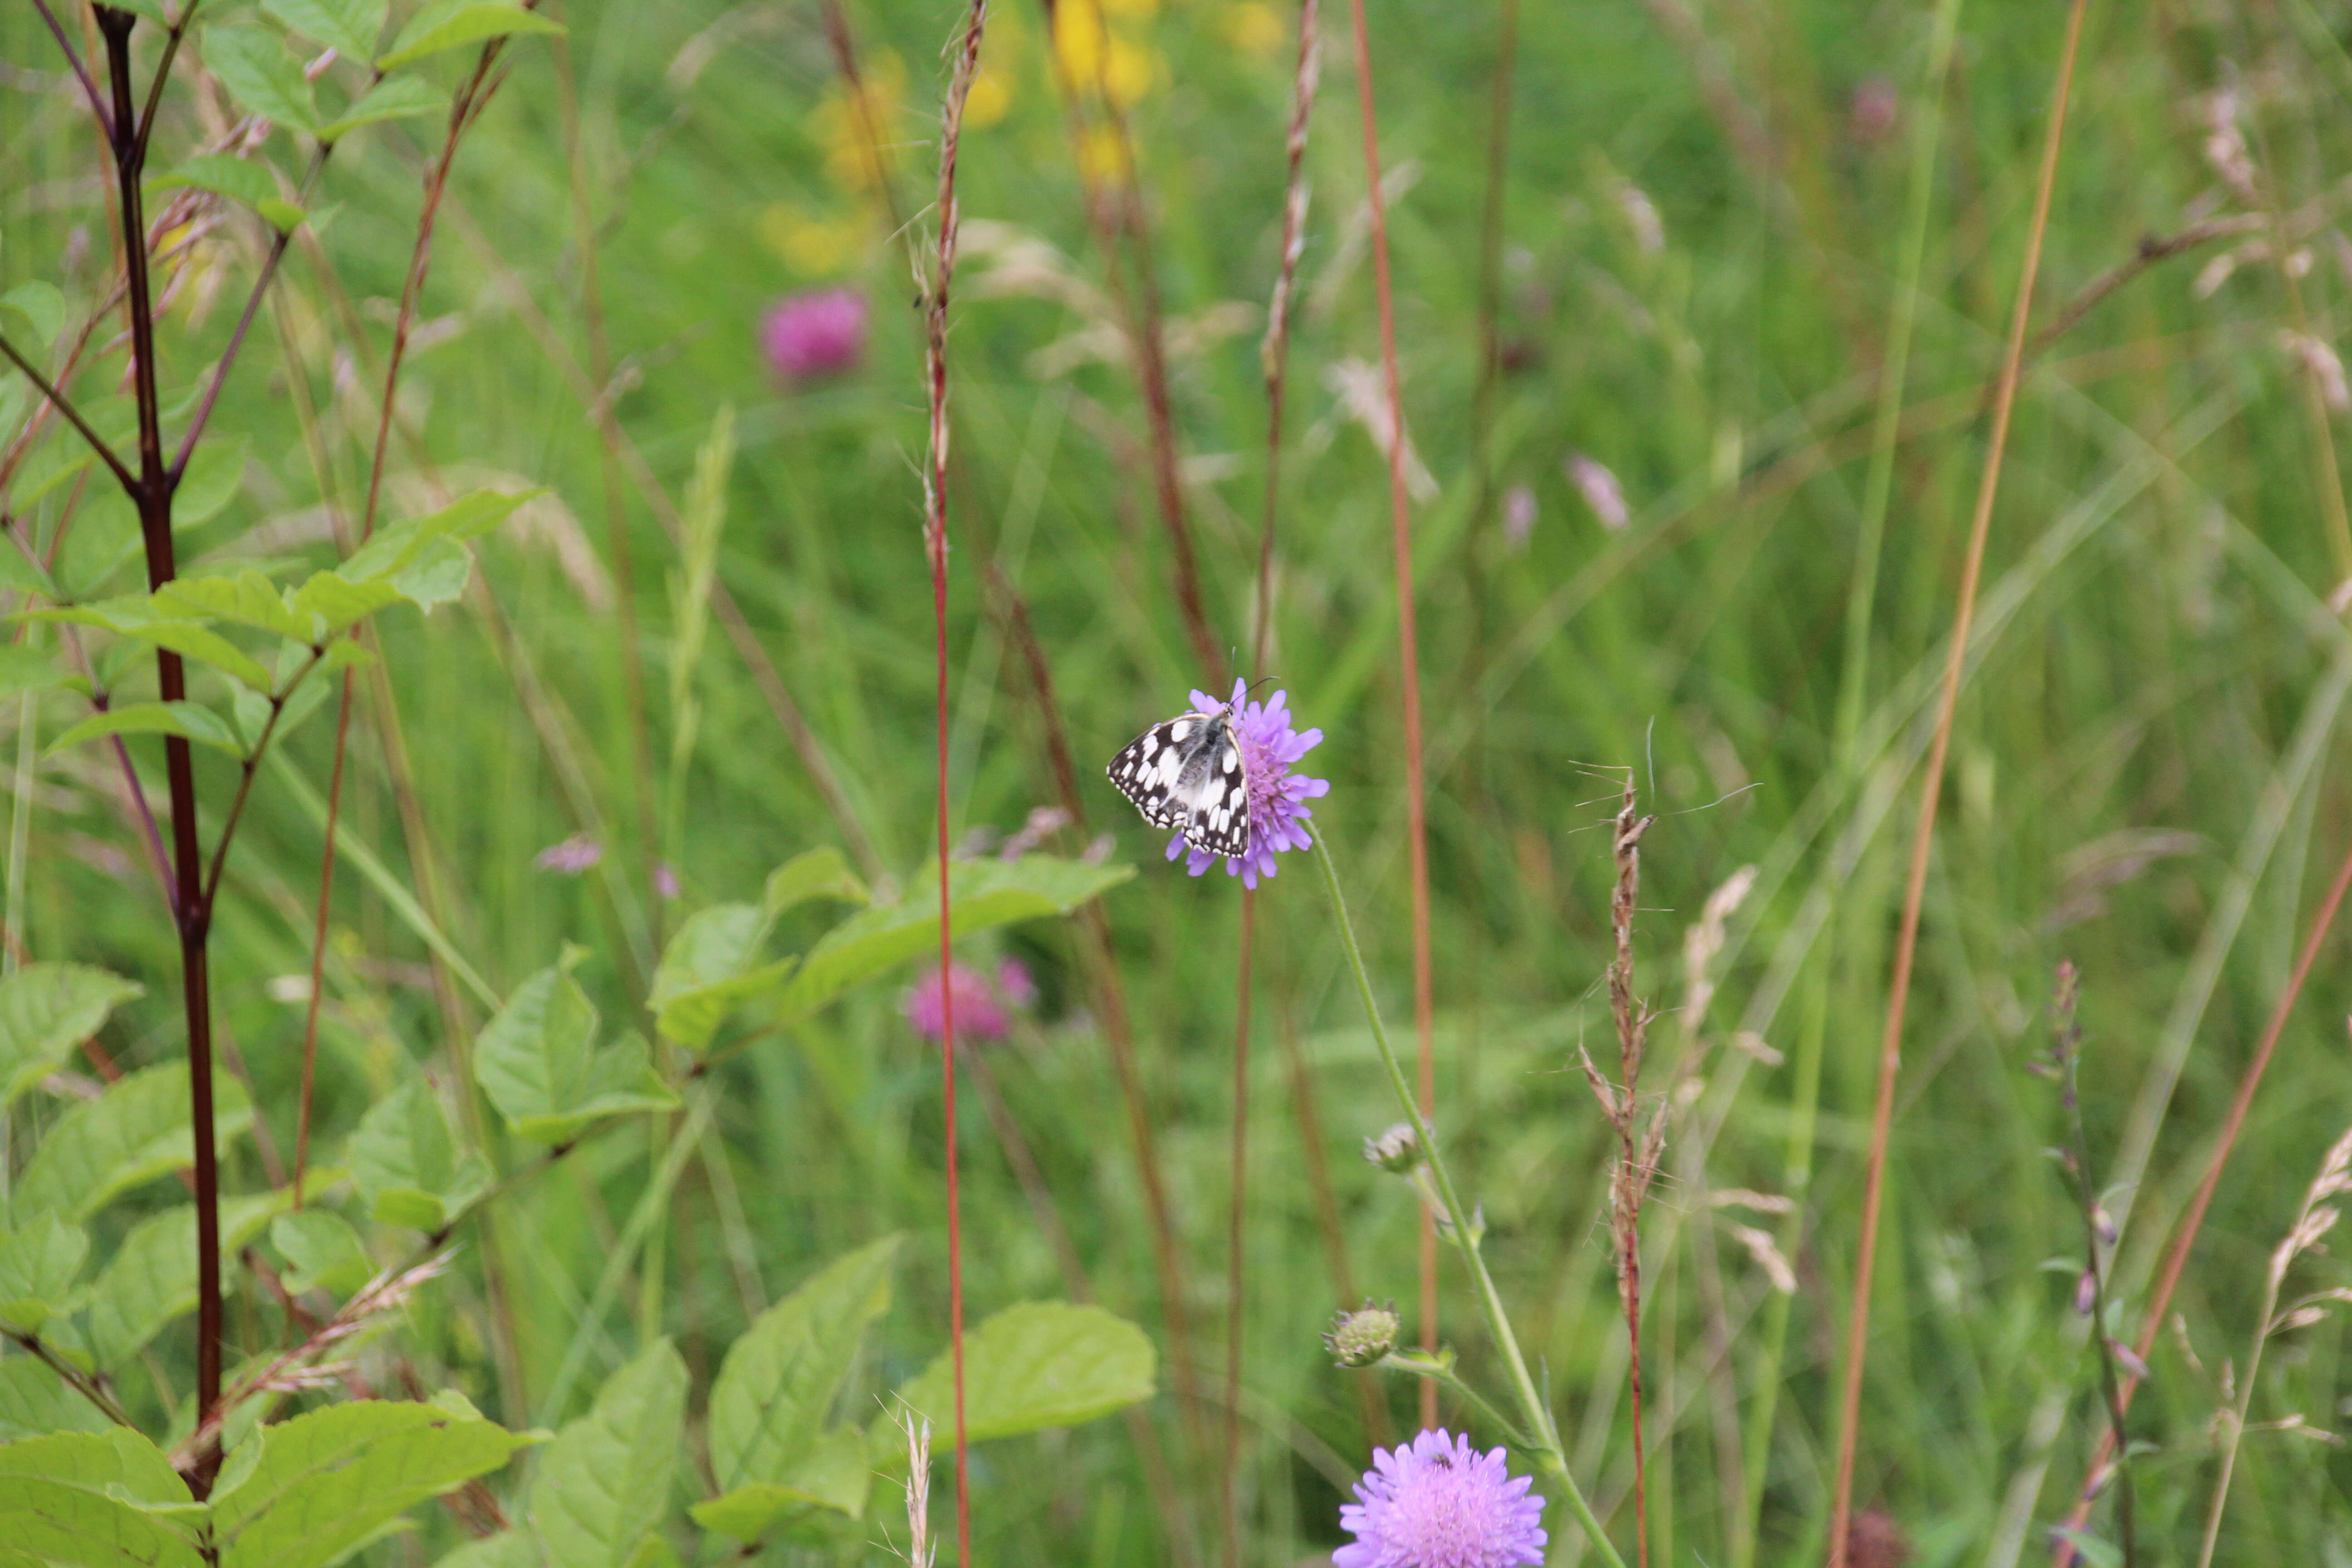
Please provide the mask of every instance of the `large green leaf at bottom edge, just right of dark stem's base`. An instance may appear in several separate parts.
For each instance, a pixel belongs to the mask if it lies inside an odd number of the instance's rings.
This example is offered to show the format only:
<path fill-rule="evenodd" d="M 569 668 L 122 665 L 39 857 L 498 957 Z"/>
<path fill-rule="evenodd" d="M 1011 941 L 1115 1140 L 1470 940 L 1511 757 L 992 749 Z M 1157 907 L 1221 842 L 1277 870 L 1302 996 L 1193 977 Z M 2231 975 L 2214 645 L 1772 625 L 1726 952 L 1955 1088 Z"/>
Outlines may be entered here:
<path fill-rule="evenodd" d="M 261 1427 L 261 1458 L 212 1500 L 226 1568 L 327 1568 L 419 1502 L 539 1441 L 470 1408 L 362 1399 Z"/>

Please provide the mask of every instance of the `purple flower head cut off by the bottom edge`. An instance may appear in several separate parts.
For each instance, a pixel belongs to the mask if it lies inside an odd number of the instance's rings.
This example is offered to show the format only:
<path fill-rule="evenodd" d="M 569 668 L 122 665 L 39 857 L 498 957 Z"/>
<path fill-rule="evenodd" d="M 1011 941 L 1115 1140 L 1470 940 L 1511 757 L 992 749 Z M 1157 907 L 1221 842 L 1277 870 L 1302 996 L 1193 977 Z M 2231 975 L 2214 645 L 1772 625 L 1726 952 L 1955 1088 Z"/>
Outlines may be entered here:
<path fill-rule="evenodd" d="M 1439 1427 L 1414 1443 L 1374 1448 L 1338 1512 L 1355 1540 L 1334 1568 L 1522 1568 L 1543 1563 L 1543 1495 L 1512 1476 L 1503 1450 L 1477 1453 Z"/>

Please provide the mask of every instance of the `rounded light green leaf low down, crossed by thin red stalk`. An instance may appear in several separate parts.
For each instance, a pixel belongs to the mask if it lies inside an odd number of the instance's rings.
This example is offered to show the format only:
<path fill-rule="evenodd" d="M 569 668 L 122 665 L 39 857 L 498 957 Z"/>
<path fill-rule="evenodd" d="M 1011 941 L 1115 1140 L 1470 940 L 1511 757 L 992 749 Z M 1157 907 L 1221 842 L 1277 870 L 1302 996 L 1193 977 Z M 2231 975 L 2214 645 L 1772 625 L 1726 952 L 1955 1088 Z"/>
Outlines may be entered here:
<path fill-rule="evenodd" d="M 964 1338 L 964 1432 L 974 1443 L 1075 1427 L 1152 1396 L 1152 1342 L 1127 1319 L 1070 1302 L 1018 1302 Z M 955 1422 L 955 1368 L 941 1354 L 898 1399 L 941 1432 Z M 882 1420 L 877 1441 L 898 1434 Z"/>

